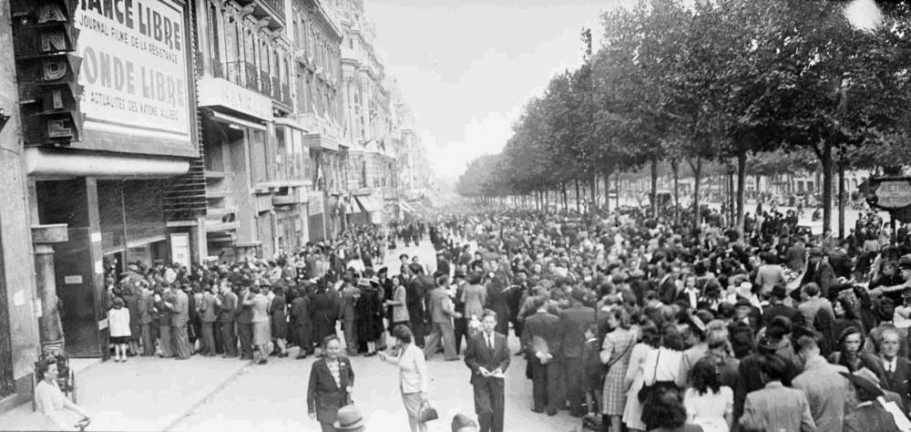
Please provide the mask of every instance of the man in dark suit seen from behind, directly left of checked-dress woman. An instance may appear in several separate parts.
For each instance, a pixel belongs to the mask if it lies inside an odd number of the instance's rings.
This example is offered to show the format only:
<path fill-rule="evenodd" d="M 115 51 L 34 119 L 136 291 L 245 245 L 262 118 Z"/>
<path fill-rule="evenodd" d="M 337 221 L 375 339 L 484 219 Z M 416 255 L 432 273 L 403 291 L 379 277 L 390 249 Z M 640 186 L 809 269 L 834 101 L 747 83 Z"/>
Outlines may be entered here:
<path fill-rule="evenodd" d="M 569 307 L 560 313 L 563 339 L 560 363 L 563 376 L 559 382 L 565 386 L 566 392 L 562 396 L 569 399 L 569 414 L 576 417 L 586 414 L 582 409 L 582 375 L 585 371 L 585 357 L 582 354 L 585 349 L 585 329 L 596 319 L 595 310 L 582 304 L 585 295 L 580 289 L 573 290 L 569 296 Z M 558 405 L 563 406 L 563 403 L 559 402 Z"/>

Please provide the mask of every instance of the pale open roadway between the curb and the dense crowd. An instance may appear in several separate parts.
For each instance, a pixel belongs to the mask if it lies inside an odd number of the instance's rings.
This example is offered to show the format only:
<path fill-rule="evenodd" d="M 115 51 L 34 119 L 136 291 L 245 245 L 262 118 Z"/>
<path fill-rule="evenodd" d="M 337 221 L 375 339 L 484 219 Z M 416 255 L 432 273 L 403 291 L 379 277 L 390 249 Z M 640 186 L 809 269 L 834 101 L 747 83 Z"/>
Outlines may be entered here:
<path fill-rule="evenodd" d="M 385 265 L 398 273 L 398 256 L 408 253 L 420 257 L 424 264 L 435 262 L 430 242 L 420 247 L 390 251 Z M 341 334 L 341 332 L 340 332 Z M 518 350 L 518 340 L 510 335 L 510 352 Z M 297 349 L 286 358 L 272 358 L 267 365 L 251 365 L 230 383 L 209 396 L 186 417 L 168 430 L 219 431 L 317 431 L 319 425 L 307 416 L 307 383 L 314 357 L 295 360 Z M 188 363 L 186 365 L 192 365 Z M 398 371 L 379 357 L 358 356 L 352 359 L 354 369 L 354 404 L 361 408 L 368 431 L 406 431 L 408 421 L 398 386 Z M 448 431 L 456 413 L 475 417 L 468 368 L 464 362 L 444 362 L 436 355 L 428 362 L 432 377 L 430 400 L 440 414 L 431 423 L 431 431 Z M 513 356 L 507 369 L 506 428 L 528 432 L 577 431 L 581 419 L 567 411 L 547 417 L 531 412 L 531 381 L 525 377 L 525 360 Z"/>

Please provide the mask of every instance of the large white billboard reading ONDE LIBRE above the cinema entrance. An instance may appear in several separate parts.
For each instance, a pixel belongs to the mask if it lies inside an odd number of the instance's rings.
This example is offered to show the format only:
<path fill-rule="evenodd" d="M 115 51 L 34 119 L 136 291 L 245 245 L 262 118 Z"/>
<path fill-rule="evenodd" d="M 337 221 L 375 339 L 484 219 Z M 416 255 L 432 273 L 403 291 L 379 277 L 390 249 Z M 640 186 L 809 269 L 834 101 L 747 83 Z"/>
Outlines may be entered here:
<path fill-rule="evenodd" d="M 183 2 L 80 0 L 85 129 L 192 146 Z"/>

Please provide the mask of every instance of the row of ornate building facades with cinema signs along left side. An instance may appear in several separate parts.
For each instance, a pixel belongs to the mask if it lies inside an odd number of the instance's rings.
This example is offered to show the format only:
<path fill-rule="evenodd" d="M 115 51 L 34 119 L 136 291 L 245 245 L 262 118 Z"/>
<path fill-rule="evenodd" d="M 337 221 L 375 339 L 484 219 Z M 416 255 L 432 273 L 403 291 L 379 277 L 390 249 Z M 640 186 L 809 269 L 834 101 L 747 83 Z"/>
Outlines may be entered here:
<path fill-rule="evenodd" d="M 128 263 L 270 259 L 388 221 L 421 164 L 360 1 L 106 5 L 0 4 L 0 401 L 42 350 L 107 358 Z"/>

